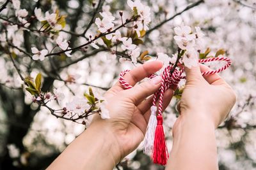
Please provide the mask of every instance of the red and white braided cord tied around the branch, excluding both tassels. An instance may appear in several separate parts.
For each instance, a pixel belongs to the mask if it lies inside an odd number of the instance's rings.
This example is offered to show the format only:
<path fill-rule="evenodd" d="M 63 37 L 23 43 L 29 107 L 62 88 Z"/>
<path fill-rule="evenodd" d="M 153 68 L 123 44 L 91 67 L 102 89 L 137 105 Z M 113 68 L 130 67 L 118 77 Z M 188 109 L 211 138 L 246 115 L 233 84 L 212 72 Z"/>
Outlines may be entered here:
<path fill-rule="evenodd" d="M 212 71 L 206 71 L 203 72 L 202 75 L 210 75 L 210 74 L 216 74 L 220 73 L 221 71 L 227 69 L 231 65 L 231 60 L 226 57 L 212 57 L 209 59 L 200 59 L 198 60 L 199 63 L 205 63 L 205 62 L 212 62 L 212 61 L 225 61 L 227 64 L 223 67 L 220 67 L 219 69 L 212 70 Z M 172 87 L 173 85 L 177 85 L 181 79 L 185 79 L 186 76 L 182 76 L 182 73 L 184 72 L 184 69 L 175 69 L 172 74 L 170 74 L 170 70 L 173 69 L 173 66 L 167 66 L 165 67 L 163 74 L 162 74 L 162 82 L 161 82 L 161 88 L 157 90 L 157 92 L 154 94 L 153 98 L 153 106 L 156 106 L 157 97 L 159 97 L 159 107 L 158 107 L 158 115 L 162 115 L 163 113 L 163 95 L 164 92 Z M 124 87 L 124 89 L 131 89 L 132 86 L 127 83 L 127 81 L 124 79 L 124 75 L 129 72 L 129 70 L 124 70 L 120 73 L 119 82 Z M 156 76 L 155 74 L 150 74 L 148 78 L 154 78 Z"/>

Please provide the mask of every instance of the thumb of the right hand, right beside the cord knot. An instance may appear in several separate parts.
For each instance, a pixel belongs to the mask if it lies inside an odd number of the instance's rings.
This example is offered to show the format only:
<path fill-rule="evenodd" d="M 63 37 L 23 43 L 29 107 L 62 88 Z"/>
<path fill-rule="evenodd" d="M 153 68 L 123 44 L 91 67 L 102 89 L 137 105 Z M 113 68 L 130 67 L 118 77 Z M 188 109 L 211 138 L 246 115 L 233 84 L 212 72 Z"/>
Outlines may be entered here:
<path fill-rule="evenodd" d="M 191 68 L 184 66 L 184 71 L 186 73 L 186 84 L 204 80 L 199 64 L 198 66 L 192 66 Z"/>

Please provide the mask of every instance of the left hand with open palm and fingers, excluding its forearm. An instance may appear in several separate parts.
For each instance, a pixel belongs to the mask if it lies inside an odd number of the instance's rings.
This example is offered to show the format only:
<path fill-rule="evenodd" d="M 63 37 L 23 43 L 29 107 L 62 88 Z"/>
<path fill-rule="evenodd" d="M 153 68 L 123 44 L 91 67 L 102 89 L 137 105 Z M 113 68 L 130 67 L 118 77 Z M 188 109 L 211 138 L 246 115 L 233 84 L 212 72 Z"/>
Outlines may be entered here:
<path fill-rule="evenodd" d="M 125 74 L 124 79 L 134 86 L 138 81 L 155 73 L 161 67 L 163 67 L 163 63 L 160 61 L 148 62 L 129 71 Z M 106 92 L 104 97 L 108 102 L 110 119 L 102 120 L 96 117 L 91 126 L 108 129 L 112 135 L 112 142 L 116 144 L 112 151 L 116 163 L 136 149 L 143 140 L 153 101 L 151 95 L 161 87 L 161 80 L 161 76 L 156 76 L 152 80 L 137 84 L 128 90 L 124 90 L 122 85 L 117 82 Z M 168 106 L 172 96 L 173 90 L 166 90 L 163 109 Z"/>

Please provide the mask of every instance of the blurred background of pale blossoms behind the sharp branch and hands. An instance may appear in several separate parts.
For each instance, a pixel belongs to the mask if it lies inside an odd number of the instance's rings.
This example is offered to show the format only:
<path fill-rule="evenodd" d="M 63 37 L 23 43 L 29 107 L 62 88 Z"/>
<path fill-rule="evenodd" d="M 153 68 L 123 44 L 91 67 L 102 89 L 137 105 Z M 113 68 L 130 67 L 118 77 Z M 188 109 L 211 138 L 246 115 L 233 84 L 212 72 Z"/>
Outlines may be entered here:
<path fill-rule="evenodd" d="M 0 0 L 0 6 L 6 1 Z M 61 15 L 67 15 L 64 31 L 60 33 L 76 46 L 86 41 L 77 36 L 83 34 L 90 23 L 93 9 L 100 4 L 99 11 L 109 11 L 118 18 L 118 12 L 129 8 L 126 0 L 20 0 L 22 8 L 33 15 L 35 6 L 43 11 L 58 8 Z M 172 55 L 177 50 L 173 41 L 173 27 L 177 25 L 199 26 L 205 32 L 205 48 L 214 54 L 220 48 L 225 56 L 232 59 L 232 66 L 221 76 L 234 88 L 237 94 L 236 106 L 230 117 L 216 130 L 220 170 L 256 169 L 256 2 L 254 0 L 141 0 L 151 8 L 150 30 L 143 38 L 140 48 L 152 55 L 163 52 Z M 0 17 L 12 16 L 11 4 L 1 11 Z M 98 14 L 97 14 L 98 15 Z M 12 19 L 12 17 L 10 17 Z M 4 20 L 0 18 L 0 33 L 4 32 Z M 31 28 L 36 24 L 31 22 Z M 95 34 L 97 27 L 92 24 L 87 34 Z M 121 32 L 125 32 L 122 30 Z M 20 29 L 20 48 L 30 52 L 33 45 L 51 44 L 49 36 L 39 36 L 26 29 Z M 71 32 L 71 33 L 70 33 Z M 76 34 L 72 34 L 76 32 Z M 47 40 L 48 39 L 48 40 Z M 49 40 L 50 39 L 50 40 Z M 100 43 L 100 42 L 99 42 Z M 44 107 L 32 103 L 32 96 L 24 90 L 22 81 L 6 55 L 3 41 L 0 41 L 0 169 L 45 169 L 86 126 L 56 118 Z M 15 52 L 15 49 L 13 49 Z M 15 60 L 22 74 L 35 78 L 37 73 L 44 77 L 42 89 L 52 92 L 53 88 L 65 93 L 63 103 L 70 101 L 74 94 L 93 87 L 101 96 L 118 78 L 125 68 L 134 67 L 131 62 L 109 59 L 110 52 L 78 50 L 71 58 L 52 57 L 59 69 L 52 69 L 49 60 L 40 64 L 32 62 L 24 53 L 15 52 Z M 83 56 L 83 57 L 80 57 Z M 68 66 L 67 66 L 68 64 Z M 75 82 L 58 80 L 73 78 Z M 74 94 L 73 94 L 74 93 Z M 164 130 L 168 150 L 172 148 L 172 126 L 177 118 L 173 99 L 164 112 Z M 60 108 L 51 103 L 51 107 Z M 93 144 L 92 144 L 93 145 Z M 86 152 L 86 151 L 84 151 Z M 100 163 L 100 162 L 99 162 Z M 202 162 L 203 163 L 203 162 Z M 141 147 L 127 156 L 116 169 L 164 169 L 152 164 L 150 157 L 143 154 Z"/>

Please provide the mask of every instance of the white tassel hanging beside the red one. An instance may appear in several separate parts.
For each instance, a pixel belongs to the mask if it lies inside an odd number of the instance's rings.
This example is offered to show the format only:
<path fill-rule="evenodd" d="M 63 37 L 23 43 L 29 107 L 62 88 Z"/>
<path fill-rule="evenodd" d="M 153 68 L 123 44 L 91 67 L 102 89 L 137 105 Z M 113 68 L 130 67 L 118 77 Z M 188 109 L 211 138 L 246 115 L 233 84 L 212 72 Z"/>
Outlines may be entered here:
<path fill-rule="evenodd" d="M 153 146 L 154 146 L 154 138 L 155 138 L 155 131 L 156 131 L 156 125 L 157 125 L 157 119 L 156 119 L 156 106 L 151 106 L 150 108 L 151 114 L 148 120 L 148 126 L 147 131 L 144 138 L 144 153 L 148 155 L 152 155 Z"/>

